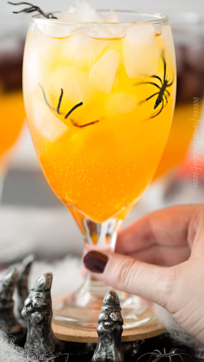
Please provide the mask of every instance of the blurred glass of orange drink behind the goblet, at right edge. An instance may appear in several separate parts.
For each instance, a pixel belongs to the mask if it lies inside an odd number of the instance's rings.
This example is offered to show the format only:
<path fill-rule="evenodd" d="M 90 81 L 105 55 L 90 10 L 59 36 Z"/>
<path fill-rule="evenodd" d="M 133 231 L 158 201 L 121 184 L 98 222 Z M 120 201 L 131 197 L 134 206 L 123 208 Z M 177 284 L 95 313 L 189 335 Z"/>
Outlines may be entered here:
<path fill-rule="evenodd" d="M 204 95 L 203 19 L 196 13 L 168 12 L 177 62 L 177 98 L 168 142 L 155 178 L 182 163 L 193 135 L 194 99 L 198 99 L 198 119 Z"/>

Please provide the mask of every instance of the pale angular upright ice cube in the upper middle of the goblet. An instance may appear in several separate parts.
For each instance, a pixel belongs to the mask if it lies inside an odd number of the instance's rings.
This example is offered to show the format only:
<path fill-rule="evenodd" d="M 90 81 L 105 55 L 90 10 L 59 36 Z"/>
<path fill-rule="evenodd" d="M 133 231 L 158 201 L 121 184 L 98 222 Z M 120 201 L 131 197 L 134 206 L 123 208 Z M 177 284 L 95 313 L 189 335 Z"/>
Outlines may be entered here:
<path fill-rule="evenodd" d="M 109 94 L 120 65 L 120 54 L 109 50 L 91 68 L 91 85 L 100 92 Z"/>

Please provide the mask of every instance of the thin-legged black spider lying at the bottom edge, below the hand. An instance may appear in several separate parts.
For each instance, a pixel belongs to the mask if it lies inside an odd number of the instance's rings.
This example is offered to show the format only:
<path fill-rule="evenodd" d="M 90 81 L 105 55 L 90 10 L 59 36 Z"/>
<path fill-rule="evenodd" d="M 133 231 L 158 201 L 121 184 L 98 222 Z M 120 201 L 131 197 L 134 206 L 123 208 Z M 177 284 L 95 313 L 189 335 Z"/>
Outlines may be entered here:
<path fill-rule="evenodd" d="M 169 362 L 173 362 L 173 357 L 178 356 L 181 358 L 181 360 L 184 362 L 184 359 L 182 356 L 186 356 L 188 357 L 188 359 L 191 359 L 191 361 L 193 362 L 194 360 L 192 359 L 192 357 L 190 356 L 190 354 L 186 353 L 185 351 L 183 351 L 182 349 L 179 348 L 172 348 L 169 353 L 166 352 L 166 348 L 164 348 L 164 353 L 162 353 L 159 349 L 155 349 L 153 352 L 149 352 L 149 353 L 145 353 L 142 356 L 140 356 L 136 362 L 138 362 L 142 357 L 145 357 L 149 355 L 149 359 L 148 362 L 151 361 L 151 357 L 155 357 L 155 359 L 152 360 L 152 362 L 157 362 L 160 361 L 161 359 L 164 358 L 169 358 Z"/>

